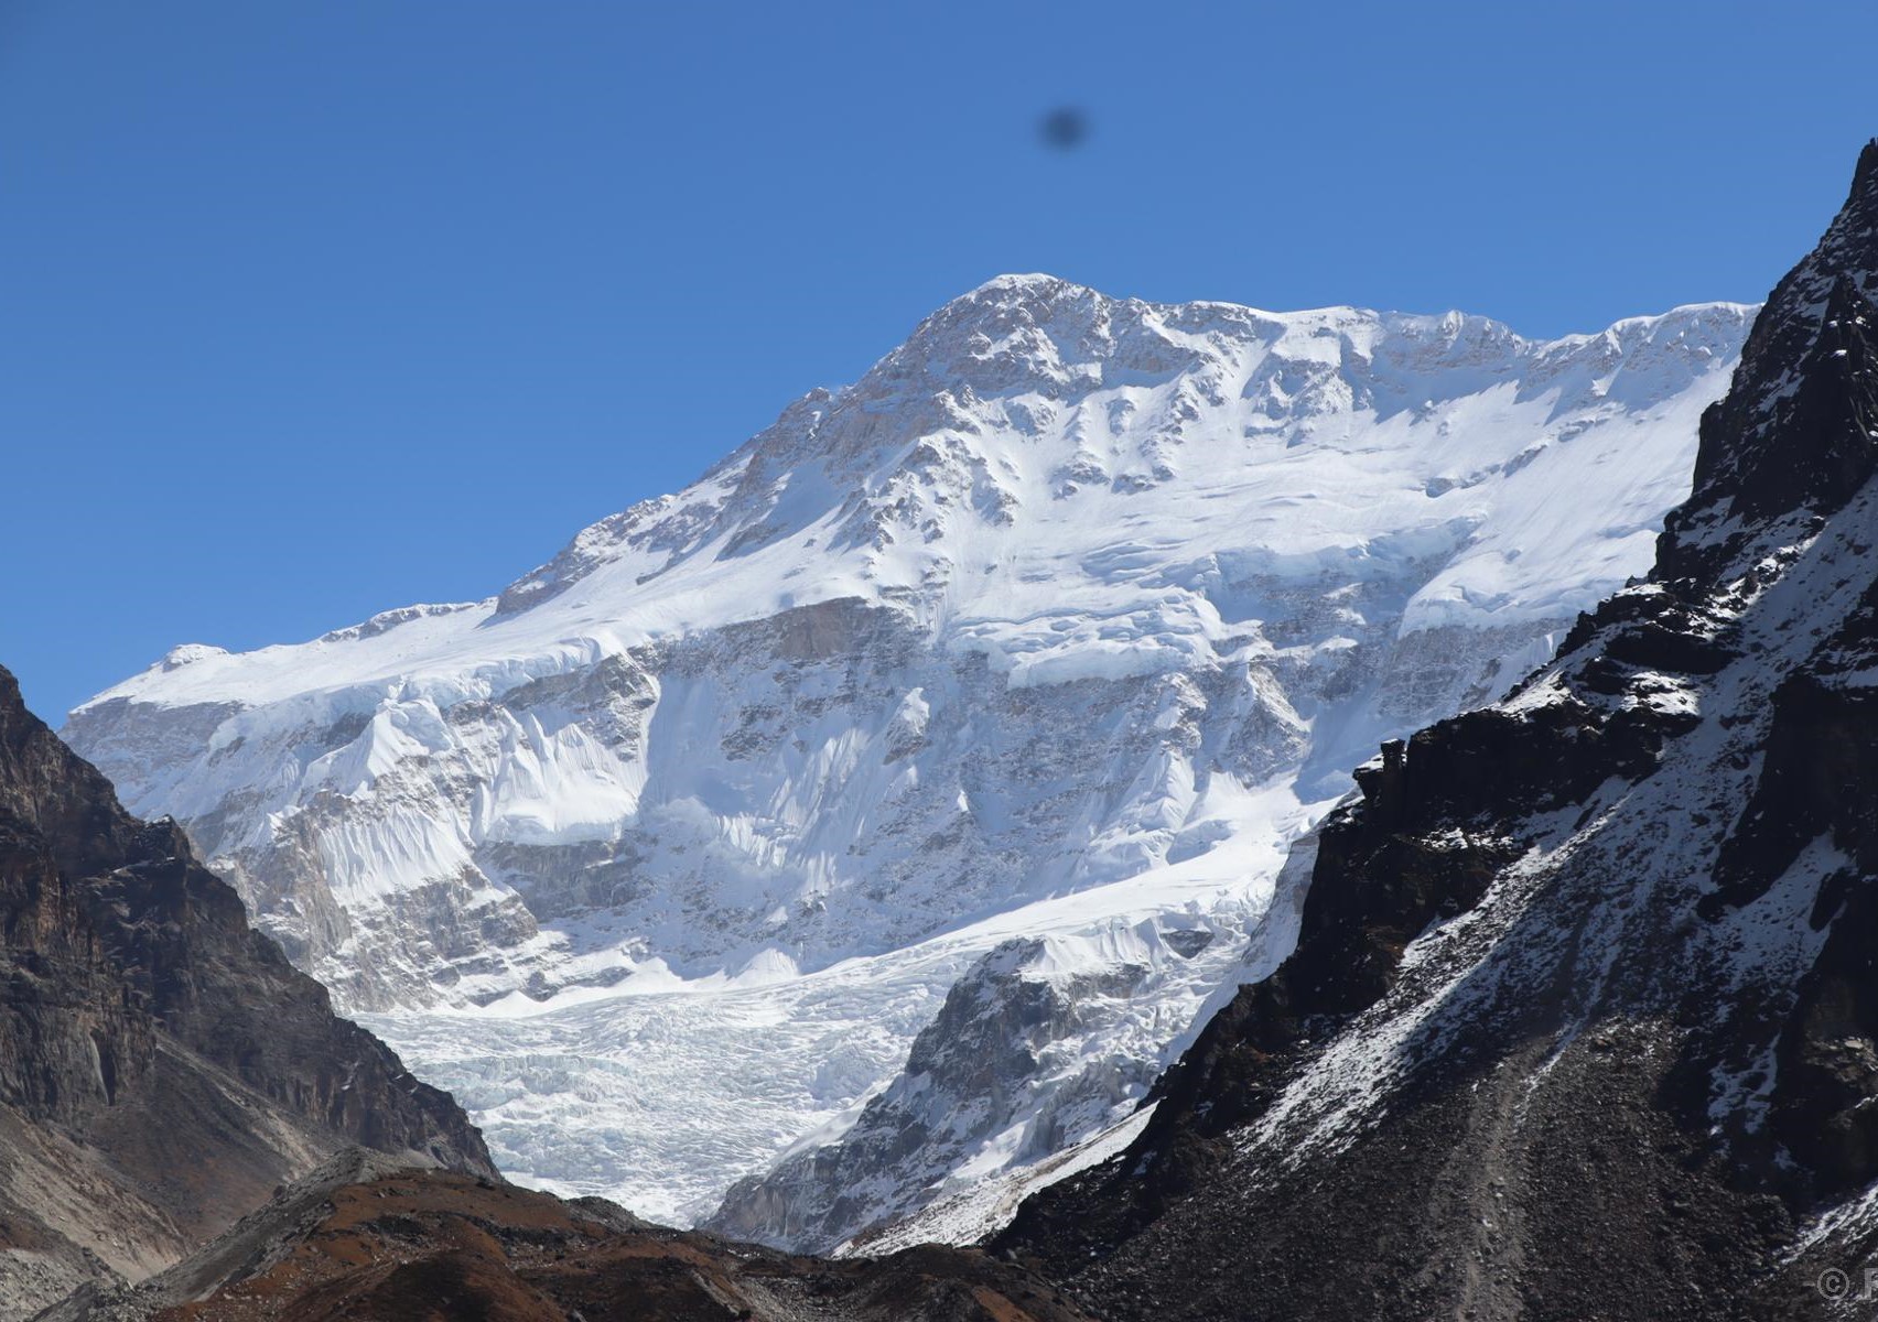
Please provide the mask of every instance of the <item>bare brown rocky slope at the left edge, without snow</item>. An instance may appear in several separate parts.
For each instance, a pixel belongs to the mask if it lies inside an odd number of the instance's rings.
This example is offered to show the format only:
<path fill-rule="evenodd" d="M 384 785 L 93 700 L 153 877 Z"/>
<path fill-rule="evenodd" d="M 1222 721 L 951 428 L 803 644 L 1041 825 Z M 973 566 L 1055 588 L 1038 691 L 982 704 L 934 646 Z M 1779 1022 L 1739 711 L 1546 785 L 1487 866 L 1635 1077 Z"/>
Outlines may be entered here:
<path fill-rule="evenodd" d="M 175 1260 L 347 1144 L 492 1174 L 456 1104 L 334 1018 L 6 670 L 0 988 L 0 1316 Z"/>

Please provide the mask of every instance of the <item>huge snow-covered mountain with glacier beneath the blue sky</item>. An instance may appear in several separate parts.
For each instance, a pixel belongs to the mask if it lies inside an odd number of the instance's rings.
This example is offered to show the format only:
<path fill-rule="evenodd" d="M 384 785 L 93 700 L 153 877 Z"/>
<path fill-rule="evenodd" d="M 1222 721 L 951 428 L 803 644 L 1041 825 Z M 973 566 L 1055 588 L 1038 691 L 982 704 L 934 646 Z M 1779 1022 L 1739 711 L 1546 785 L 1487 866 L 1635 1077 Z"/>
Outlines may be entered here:
<path fill-rule="evenodd" d="M 68 736 L 518 1177 L 687 1219 L 962 1089 L 819 1162 L 845 1236 L 1132 1108 L 1343 768 L 1649 565 L 1750 315 L 1007 276 L 496 597 L 178 648 Z M 986 958 L 1042 1037 L 890 1084 Z M 804 1237 L 798 1174 L 725 1215 Z"/>

